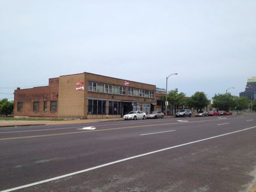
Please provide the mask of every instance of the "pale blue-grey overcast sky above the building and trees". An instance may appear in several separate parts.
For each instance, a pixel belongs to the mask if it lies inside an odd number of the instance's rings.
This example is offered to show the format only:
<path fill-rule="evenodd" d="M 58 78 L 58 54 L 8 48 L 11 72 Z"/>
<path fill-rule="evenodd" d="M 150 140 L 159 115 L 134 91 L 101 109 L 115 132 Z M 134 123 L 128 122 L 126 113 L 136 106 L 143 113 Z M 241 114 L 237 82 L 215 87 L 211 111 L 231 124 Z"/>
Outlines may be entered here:
<path fill-rule="evenodd" d="M 0 99 L 89 72 L 239 96 L 256 76 L 256 1 L 0 0 Z M 5 94 L 8 93 L 8 94 Z"/>

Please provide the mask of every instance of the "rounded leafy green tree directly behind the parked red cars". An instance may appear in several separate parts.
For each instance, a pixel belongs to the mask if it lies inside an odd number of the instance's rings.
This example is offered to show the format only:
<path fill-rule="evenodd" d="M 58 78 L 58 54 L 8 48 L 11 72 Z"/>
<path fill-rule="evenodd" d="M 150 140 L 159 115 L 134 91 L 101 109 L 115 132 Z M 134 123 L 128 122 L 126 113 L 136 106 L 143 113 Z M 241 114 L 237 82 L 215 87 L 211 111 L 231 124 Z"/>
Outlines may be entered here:
<path fill-rule="evenodd" d="M 230 93 L 218 95 L 215 94 L 215 96 L 212 99 L 212 106 L 214 108 L 217 108 L 217 110 L 228 111 L 234 106 L 236 106 L 236 103 L 234 102 L 234 97 Z"/>

